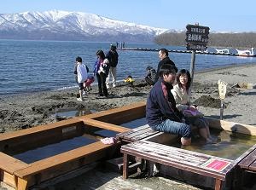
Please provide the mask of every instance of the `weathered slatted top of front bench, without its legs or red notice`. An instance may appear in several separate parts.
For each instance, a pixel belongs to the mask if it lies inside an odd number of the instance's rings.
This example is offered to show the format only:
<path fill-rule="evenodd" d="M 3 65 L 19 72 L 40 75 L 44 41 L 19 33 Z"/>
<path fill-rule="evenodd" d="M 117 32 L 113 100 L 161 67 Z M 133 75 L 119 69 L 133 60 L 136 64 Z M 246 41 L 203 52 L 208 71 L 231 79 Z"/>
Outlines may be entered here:
<path fill-rule="evenodd" d="M 150 146 L 148 146 L 150 145 Z M 161 149 L 159 147 L 162 147 Z M 136 141 L 121 147 L 121 153 L 138 156 L 147 160 L 166 164 L 182 170 L 188 170 L 204 176 L 212 176 L 224 180 L 226 174 L 236 165 L 232 160 L 218 158 L 202 153 L 195 153 L 175 147 L 159 145 L 158 143 L 149 141 Z M 166 150 L 166 152 L 164 152 Z M 225 161 L 228 166 L 224 170 L 212 170 L 204 166 L 208 160 L 216 158 Z"/>

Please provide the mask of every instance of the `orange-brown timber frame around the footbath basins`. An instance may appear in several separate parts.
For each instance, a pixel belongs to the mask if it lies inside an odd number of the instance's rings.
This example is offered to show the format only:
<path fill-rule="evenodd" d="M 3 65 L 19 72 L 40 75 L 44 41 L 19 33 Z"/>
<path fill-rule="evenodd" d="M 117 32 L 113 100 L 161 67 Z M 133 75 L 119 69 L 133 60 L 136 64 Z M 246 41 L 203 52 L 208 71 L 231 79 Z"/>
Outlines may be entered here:
<path fill-rule="evenodd" d="M 84 167 L 84 165 L 106 158 L 112 158 L 115 153 L 120 152 L 122 145 L 129 143 L 122 141 L 120 138 L 122 135 L 120 134 L 127 134 L 131 129 L 123 127 L 120 124 L 144 117 L 145 102 L 137 102 L 129 106 L 70 118 L 53 124 L 44 124 L 31 129 L 1 134 L 0 181 L 18 190 L 29 189 L 45 181 L 52 180 L 57 176 L 78 170 L 80 167 Z M 220 121 L 212 118 L 208 118 L 208 120 L 211 128 L 256 135 L 255 127 L 250 125 Z M 97 129 L 119 133 L 117 135 L 119 141 L 111 145 L 105 145 L 102 141 L 96 141 L 65 153 L 35 161 L 31 164 L 26 164 L 11 156 L 15 153 L 26 152 L 36 147 L 43 147 L 72 139 L 73 137 L 83 135 L 87 130 Z M 152 134 L 152 136 L 155 138 L 157 134 Z M 234 167 L 241 160 L 247 158 L 247 155 L 250 153 L 253 153 L 254 156 L 255 149 L 256 147 L 254 146 L 249 150 L 245 150 L 245 153 L 232 163 Z M 243 166 L 244 168 L 241 167 L 241 170 L 250 170 L 247 162 Z"/>

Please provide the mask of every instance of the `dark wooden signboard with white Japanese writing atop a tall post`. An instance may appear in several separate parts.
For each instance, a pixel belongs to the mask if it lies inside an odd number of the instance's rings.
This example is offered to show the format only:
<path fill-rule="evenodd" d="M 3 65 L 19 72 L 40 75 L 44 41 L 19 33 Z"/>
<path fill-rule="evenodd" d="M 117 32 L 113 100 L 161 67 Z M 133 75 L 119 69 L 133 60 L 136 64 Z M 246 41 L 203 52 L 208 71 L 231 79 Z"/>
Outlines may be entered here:
<path fill-rule="evenodd" d="M 210 28 L 207 26 L 187 25 L 186 42 L 188 50 L 206 50 Z"/>

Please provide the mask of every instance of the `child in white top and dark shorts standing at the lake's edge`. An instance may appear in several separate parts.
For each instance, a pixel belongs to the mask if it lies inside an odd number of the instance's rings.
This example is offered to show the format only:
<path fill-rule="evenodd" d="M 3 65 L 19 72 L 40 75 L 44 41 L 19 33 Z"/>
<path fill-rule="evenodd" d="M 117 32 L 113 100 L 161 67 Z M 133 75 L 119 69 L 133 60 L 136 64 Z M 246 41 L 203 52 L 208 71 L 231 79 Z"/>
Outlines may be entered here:
<path fill-rule="evenodd" d="M 88 73 L 86 66 L 84 63 L 82 63 L 82 58 L 77 57 L 76 58 L 76 71 L 74 71 L 74 74 L 77 74 L 78 77 L 78 83 L 79 83 L 79 95 L 80 97 L 77 99 L 78 101 L 83 101 L 83 92 L 84 92 L 84 81 L 88 78 Z"/>

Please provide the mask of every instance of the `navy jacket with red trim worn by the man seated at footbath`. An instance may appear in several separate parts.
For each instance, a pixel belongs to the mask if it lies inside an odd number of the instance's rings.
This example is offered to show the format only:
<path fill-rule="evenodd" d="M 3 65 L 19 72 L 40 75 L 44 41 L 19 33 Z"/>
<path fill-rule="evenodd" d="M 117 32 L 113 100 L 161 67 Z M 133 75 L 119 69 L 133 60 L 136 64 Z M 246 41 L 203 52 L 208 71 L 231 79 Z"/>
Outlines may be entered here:
<path fill-rule="evenodd" d="M 163 86 L 166 86 L 166 96 L 164 95 Z M 172 84 L 165 83 L 159 78 L 150 90 L 146 105 L 146 119 L 149 126 L 160 124 L 167 118 L 172 121 L 182 122 L 182 113 L 177 110 L 171 89 Z"/>

